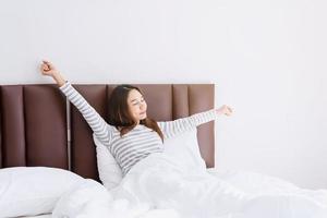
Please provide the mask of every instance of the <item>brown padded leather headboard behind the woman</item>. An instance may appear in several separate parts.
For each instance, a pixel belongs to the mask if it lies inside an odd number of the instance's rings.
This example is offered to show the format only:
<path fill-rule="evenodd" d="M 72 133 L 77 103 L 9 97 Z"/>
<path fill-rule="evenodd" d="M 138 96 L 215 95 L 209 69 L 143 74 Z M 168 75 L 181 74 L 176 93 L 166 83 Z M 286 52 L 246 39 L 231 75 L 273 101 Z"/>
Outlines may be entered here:
<path fill-rule="evenodd" d="M 116 85 L 74 85 L 107 120 L 108 98 Z M 141 84 L 148 117 L 168 121 L 214 108 L 214 84 Z M 66 122 L 66 112 L 70 120 Z M 55 85 L 0 86 L 0 168 L 47 166 L 98 180 L 92 130 Z M 69 131 L 68 131 L 69 130 Z M 198 128 L 207 167 L 214 167 L 214 122 Z"/>

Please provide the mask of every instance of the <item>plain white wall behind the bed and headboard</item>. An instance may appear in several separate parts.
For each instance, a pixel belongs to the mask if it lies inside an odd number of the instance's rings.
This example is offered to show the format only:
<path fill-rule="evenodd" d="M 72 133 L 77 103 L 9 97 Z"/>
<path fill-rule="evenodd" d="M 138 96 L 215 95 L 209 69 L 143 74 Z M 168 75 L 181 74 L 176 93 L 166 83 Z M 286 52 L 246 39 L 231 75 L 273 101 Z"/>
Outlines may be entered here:
<path fill-rule="evenodd" d="M 327 187 L 323 0 L 2 0 L 0 84 L 217 84 L 217 167 Z"/>

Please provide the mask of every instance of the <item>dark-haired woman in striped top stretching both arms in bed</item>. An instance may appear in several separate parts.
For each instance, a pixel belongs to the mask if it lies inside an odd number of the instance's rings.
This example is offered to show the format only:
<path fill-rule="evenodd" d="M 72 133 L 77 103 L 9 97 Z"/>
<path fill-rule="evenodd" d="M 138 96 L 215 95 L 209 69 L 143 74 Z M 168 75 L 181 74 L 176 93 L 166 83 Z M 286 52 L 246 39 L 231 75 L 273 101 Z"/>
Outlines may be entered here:
<path fill-rule="evenodd" d="M 147 105 L 140 88 L 131 85 L 117 86 L 109 99 L 109 124 L 66 82 L 49 61 L 43 61 L 40 71 L 51 76 L 62 93 L 81 111 L 95 135 L 109 147 L 112 156 L 126 174 L 140 160 L 153 153 L 162 152 L 164 138 L 191 130 L 216 119 L 230 116 L 228 106 L 170 122 L 156 122 L 147 118 Z"/>

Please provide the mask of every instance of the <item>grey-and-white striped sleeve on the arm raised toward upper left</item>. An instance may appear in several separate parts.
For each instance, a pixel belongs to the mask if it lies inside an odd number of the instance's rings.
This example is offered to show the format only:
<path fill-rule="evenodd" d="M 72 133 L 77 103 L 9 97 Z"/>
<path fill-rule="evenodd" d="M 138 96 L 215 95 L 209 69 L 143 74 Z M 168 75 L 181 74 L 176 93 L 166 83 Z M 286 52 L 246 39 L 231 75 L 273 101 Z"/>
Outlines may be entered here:
<path fill-rule="evenodd" d="M 78 109 L 98 140 L 104 145 L 109 146 L 112 138 L 113 126 L 109 125 L 102 119 L 102 117 L 85 100 L 70 82 L 65 82 L 59 89 Z"/>

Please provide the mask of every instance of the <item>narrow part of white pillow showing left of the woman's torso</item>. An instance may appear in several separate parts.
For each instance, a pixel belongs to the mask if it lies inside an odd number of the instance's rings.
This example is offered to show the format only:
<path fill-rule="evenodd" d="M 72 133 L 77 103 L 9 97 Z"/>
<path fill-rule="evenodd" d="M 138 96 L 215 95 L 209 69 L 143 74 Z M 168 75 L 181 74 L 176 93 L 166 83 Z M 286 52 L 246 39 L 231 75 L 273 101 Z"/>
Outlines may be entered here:
<path fill-rule="evenodd" d="M 109 148 L 101 144 L 95 134 L 93 140 L 96 145 L 99 178 L 107 190 L 116 187 L 122 180 L 122 171 L 111 155 Z"/>

